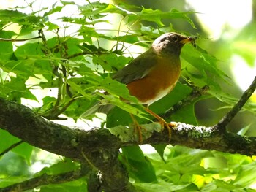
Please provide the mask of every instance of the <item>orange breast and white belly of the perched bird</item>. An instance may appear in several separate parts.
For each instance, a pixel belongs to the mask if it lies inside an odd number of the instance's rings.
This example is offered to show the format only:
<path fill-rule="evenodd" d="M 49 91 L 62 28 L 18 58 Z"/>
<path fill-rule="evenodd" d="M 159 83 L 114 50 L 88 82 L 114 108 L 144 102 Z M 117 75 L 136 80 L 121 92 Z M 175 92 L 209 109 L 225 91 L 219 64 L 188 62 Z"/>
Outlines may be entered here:
<path fill-rule="evenodd" d="M 146 77 L 129 82 L 127 88 L 141 104 L 150 105 L 173 90 L 180 73 L 179 59 L 170 61 L 170 58 L 159 58 Z"/>

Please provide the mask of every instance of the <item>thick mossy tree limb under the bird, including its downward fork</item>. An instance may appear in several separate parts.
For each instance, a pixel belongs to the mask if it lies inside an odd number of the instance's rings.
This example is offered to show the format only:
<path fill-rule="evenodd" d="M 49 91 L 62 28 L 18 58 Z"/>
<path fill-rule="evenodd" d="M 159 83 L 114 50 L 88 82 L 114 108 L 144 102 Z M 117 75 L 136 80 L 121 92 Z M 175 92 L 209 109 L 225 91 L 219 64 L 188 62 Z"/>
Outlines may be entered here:
<path fill-rule="evenodd" d="M 89 180 L 89 191 L 98 188 L 95 183 L 100 183 L 101 191 L 113 191 L 117 188 L 127 192 L 136 191 L 129 183 L 127 172 L 117 158 L 120 147 L 138 145 L 132 126 L 85 131 L 52 123 L 28 107 L 13 101 L 0 98 L 0 106 L 0 128 L 9 131 L 15 137 L 76 161 L 86 163 L 86 155 L 102 174 L 102 177 L 92 177 L 93 179 Z M 143 131 L 143 144 L 167 144 L 167 129 L 161 131 L 159 123 L 141 126 L 143 130 L 146 129 Z M 256 154 L 255 137 L 221 133 L 215 127 L 192 126 L 185 123 L 177 123 L 177 127 L 172 131 L 170 143 L 225 153 Z"/>

